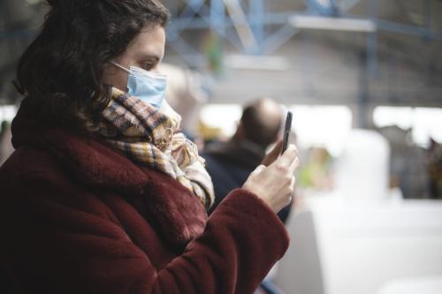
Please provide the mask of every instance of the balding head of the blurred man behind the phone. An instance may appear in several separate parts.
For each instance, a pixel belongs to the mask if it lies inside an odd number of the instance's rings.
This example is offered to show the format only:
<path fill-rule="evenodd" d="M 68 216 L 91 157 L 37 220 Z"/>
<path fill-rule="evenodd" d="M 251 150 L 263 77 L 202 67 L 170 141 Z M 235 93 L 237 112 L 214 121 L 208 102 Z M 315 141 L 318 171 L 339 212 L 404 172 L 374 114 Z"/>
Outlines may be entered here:
<path fill-rule="evenodd" d="M 278 139 L 281 124 L 281 108 L 269 98 L 258 99 L 248 104 L 242 111 L 240 120 L 242 137 L 264 148 Z"/>

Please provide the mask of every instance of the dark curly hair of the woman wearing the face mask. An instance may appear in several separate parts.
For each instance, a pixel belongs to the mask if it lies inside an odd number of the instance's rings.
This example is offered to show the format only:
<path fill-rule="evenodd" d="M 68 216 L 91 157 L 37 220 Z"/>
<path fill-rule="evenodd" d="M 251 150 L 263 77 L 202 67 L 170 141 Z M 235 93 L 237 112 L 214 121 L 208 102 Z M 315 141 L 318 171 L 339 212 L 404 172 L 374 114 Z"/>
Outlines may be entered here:
<path fill-rule="evenodd" d="M 41 34 L 20 58 L 15 86 L 41 119 L 82 128 L 110 100 L 104 64 L 145 27 L 167 25 L 158 0 L 48 0 Z"/>

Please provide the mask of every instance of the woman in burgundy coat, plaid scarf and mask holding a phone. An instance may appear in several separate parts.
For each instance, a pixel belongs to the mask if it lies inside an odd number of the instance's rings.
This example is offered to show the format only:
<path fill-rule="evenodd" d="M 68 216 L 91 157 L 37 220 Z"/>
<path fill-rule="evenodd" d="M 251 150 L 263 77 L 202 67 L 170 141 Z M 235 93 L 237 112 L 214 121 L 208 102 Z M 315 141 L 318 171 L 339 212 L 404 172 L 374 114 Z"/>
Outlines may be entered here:
<path fill-rule="evenodd" d="M 0 170 L 12 293 L 253 293 L 288 245 L 296 148 L 207 218 L 210 178 L 163 101 L 157 0 L 64 0 L 19 62 Z M 278 157 L 278 159 L 276 159 Z"/>

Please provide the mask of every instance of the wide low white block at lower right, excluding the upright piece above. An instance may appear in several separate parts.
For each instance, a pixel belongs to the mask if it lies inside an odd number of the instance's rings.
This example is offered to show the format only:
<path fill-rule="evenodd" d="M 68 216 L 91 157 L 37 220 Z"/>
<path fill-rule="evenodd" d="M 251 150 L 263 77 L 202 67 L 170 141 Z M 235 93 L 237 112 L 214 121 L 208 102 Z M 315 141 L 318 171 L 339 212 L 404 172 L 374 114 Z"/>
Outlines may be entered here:
<path fill-rule="evenodd" d="M 376 294 L 398 278 L 442 275 L 442 201 L 310 199 L 288 230 L 276 279 L 287 294 Z"/>

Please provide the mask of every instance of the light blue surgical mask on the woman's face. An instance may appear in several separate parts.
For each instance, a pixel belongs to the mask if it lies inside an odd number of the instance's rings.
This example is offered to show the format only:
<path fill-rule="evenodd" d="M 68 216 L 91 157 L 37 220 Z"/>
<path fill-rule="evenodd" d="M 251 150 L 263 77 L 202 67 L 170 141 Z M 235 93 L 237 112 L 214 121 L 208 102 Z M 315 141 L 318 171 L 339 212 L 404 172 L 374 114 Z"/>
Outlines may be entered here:
<path fill-rule="evenodd" d="M 166 76 L 155 72 L 148 72 L 135 66 L 127 69 L 114 62 L 110 63 L 129 74 L 127 76 L 127 94 L 138 97 L 143 102 L 148 102 L 156 109 L 161 107 L 167 84 Z"/>

